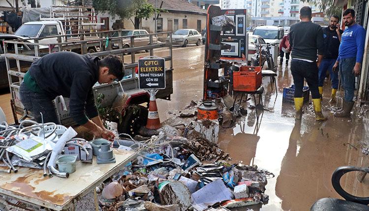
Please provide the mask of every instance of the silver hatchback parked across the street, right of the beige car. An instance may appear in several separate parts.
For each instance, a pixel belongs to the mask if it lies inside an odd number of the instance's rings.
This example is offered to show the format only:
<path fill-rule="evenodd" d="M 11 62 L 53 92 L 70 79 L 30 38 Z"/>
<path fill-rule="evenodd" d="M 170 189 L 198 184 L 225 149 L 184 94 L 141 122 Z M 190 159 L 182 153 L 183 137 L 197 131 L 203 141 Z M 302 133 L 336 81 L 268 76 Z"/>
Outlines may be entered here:
<path fill-rule="evenodd" d="M 167 40 L 168 39 L 169 38 L 167 38 Z M 196 44 L 199 46 L 201 42 L 201 34 L 195 29 L 178 29 L 172 35 L 173 45 L 182 45 L 182 47 L 186 47 L 187 44 Z"/>

